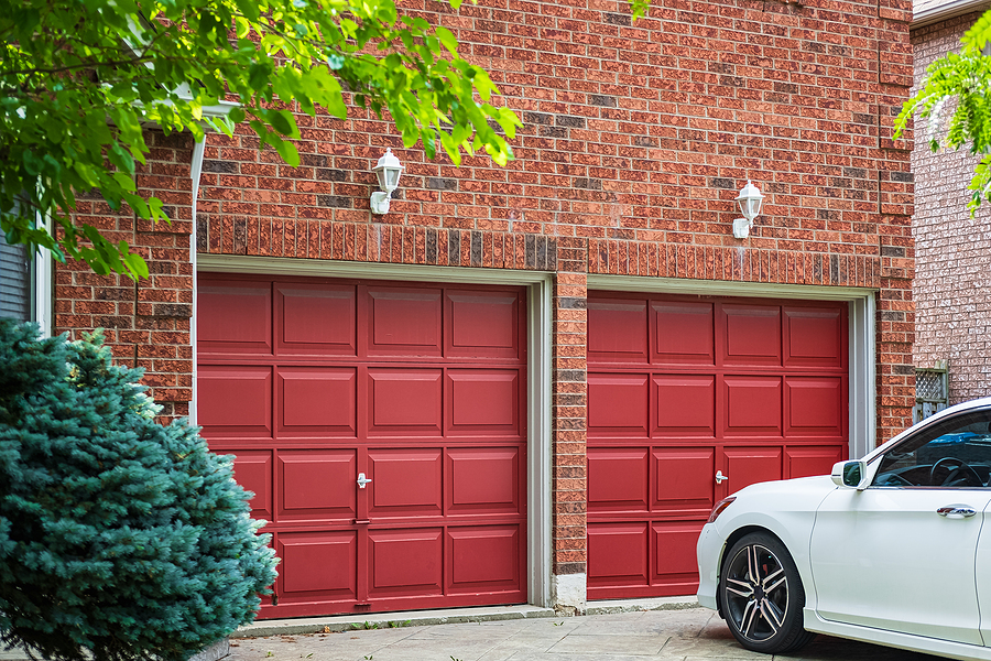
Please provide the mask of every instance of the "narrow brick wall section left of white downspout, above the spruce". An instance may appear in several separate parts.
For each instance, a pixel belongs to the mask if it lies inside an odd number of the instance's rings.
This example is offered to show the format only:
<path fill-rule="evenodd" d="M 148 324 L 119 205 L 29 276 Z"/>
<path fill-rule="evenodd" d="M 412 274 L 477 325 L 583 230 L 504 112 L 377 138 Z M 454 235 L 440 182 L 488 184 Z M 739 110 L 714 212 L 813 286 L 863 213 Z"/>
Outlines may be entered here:
<path fill-rule="evenodd" d="M 149 132 L 151 154 L 138 165 L 138 185 L 165 203 L 172 224 L 135 223 L 130 208 L 112 212 L 99 195 L 80 196 L 77 223 L 113 241 L 127 241 L 148 262 L 150 277 L 96 275 L 84 263 L 59 264 L 55 274 L 55 332 L 75 337 L 104 328 L 113 356 L 144 368 L 143 382 L 163 405 L 162 420 L 188 415 L 193 397 L 193 139 Z"/>

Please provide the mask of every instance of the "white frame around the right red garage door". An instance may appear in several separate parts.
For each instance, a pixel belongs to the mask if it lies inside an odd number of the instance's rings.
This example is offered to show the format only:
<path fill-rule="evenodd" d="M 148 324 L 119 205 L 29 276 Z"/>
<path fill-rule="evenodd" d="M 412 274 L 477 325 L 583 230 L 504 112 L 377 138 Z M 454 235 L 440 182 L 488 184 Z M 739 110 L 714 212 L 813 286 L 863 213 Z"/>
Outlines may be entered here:
<path fill-rule="evenodd" d="M 865 455 L 876 445 L 875 381 L 876 345 L 874 311 L 876 290 L 849 286 L 679 280 L 636 275 L 588 277 L 589 290 L 697 294 L 700 296 L 749 296 L 808 301 L 846 301 L 850 345 L 850 458 Z"/>

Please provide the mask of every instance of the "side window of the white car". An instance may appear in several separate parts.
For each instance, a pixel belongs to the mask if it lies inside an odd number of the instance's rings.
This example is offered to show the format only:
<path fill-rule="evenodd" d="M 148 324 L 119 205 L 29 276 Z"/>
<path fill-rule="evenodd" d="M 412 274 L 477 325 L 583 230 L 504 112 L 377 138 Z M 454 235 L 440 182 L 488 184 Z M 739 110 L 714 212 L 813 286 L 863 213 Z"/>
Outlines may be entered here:
<path fill-rule="evenodd" d="M 922 430 L 881 459 L 874 487 L 991 486 L 991 411 L 956 415 Z"/>

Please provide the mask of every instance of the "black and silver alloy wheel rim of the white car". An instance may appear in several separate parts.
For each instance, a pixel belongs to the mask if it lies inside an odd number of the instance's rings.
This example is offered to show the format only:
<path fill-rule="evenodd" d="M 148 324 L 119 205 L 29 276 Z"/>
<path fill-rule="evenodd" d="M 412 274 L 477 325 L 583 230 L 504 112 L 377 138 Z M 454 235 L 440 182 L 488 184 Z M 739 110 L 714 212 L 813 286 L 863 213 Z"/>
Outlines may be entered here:
<path fill-rule="evenodd" d="M 766 546 L 740 549 L 727 565 L 726 607 L 747 640 L 773 638 L 788 611 L 788 579 L 777 556 Z"/>

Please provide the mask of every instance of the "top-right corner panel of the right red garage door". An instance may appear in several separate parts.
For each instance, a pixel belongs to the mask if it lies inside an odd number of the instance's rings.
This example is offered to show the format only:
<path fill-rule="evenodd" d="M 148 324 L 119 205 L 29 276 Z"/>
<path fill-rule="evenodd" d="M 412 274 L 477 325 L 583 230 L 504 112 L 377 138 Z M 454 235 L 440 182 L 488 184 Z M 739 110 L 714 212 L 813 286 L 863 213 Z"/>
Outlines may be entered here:
<path fill-rule="evenodd" d="M 846 364 L 841 307 L 784 307 L 785 366 L 834 367 Z"/>

